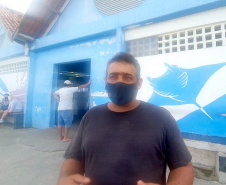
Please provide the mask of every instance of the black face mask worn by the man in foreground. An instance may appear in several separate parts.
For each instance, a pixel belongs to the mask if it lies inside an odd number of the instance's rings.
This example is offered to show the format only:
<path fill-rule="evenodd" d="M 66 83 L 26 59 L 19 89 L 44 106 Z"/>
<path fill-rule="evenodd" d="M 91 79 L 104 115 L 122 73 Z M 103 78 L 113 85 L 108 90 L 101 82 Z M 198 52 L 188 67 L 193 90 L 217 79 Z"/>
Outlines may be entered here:
<path fill-rule="evenodd" d="M 122 82 L 107 83 L 105 87 L 109 98 L 116 105 L 125 105 L 137 95 L 137 83 L 126 84 Z"/>

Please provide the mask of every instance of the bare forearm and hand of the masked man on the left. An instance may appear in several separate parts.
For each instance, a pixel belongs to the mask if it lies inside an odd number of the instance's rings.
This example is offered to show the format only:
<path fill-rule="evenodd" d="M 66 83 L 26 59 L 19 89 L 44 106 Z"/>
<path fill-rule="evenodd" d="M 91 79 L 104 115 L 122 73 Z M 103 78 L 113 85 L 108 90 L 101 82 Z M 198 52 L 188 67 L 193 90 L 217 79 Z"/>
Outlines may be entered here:
<path fill-rule="evenodd" d="M 90 184 L 90 179 L 84 177 L 82 163 L 75 159 L 66 159 L 60 170 L 57 185 Z"/>

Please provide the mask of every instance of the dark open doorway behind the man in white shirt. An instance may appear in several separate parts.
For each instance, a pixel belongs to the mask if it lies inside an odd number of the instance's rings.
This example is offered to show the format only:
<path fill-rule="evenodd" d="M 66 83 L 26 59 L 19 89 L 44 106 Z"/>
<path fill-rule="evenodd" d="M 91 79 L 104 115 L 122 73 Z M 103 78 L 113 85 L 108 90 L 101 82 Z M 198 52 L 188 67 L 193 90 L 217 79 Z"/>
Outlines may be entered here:
<path fill-rule="evenodd" d="M 57 64 L 55 66 L 56 83 L 54 89 L 64 87 L 64 81 L 70 80 L 72 87 L 86 84 L 90 80 L 90 60 L 76 61 L 70 63 Z M 73 95 L 73 124 L 78 124 L 81 118 L 89 109 L 90 88 L 79 88 Z M 57 106 L 55 111 L 55 125 L 57 125 Z"/>

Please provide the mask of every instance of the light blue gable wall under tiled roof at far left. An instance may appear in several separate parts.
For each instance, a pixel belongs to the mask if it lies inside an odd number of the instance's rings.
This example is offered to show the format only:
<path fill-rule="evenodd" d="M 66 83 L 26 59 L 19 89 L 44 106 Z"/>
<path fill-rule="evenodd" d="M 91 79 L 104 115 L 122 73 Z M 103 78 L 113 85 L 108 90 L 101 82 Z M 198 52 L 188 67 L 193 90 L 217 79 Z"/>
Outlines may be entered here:
<path fill-rule="evenodd" d="M 5 34 L 5 37 L 2 46 L 0 47 L 0 60 L 24 55 L 24 46 L 16 42 L 12 42 L 2 25 L 0 25 L 0 35 L 1 34 Z"/>

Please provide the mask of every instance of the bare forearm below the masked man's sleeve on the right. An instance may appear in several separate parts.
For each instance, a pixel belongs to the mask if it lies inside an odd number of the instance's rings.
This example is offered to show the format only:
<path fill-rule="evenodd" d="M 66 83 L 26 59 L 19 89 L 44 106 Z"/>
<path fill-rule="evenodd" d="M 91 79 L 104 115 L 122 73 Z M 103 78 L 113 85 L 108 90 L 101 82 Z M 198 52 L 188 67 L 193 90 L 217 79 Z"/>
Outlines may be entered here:
<path fill-rule="evenodd" d="M 189 162 L 186 166 L 170 170 L 167 185 L 192 185 L 193 181 L 193 166 Z"/>

